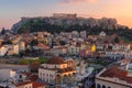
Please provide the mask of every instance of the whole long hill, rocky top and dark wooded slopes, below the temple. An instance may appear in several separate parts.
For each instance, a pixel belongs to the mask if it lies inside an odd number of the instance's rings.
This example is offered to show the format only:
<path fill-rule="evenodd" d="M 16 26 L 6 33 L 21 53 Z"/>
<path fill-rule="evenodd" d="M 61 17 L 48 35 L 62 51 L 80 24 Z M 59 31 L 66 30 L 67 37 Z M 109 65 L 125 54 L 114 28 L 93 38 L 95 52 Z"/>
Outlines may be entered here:
<path fill-rule="evenodd" d="M 119 25 L 116 19 L 55 19 L 55 18 L 32 18 L 24 19 L 13 25 L 15 33 L 31 33 L 47 31 L 51 33 L 87 31 L 87 34 L 99 34 L 105 31 L 108 35 L 117 34 L 127 41 L 132 41 L 132 30 Z"/>

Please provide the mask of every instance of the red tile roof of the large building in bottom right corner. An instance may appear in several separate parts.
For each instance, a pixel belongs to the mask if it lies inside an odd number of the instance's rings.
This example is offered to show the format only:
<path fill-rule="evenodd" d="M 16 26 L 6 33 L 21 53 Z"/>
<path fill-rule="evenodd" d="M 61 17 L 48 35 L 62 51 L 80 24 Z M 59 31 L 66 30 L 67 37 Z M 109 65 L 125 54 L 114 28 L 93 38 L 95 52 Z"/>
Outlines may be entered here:
<path fill-rule="evenodd" d="M 129 84 L 132 84 L 132 77 L 129 77 L 127 75 L 128 75 L 127 70 L 122 70 L 118 67 L 112 67 L 112 68 L 108 68 L 107 70 L 105 70 L 100 76 L 110 77 L 110 78 L 119 78 L 120 80 L 124 80 Z"/>

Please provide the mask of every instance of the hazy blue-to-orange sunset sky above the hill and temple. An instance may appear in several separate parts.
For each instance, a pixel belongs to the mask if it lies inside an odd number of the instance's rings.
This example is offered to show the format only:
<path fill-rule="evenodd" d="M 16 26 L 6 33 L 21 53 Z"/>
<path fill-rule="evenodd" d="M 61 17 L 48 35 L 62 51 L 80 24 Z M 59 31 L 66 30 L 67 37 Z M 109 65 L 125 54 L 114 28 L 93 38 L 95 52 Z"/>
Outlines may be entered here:
<path fill-rule="evenodd" d="M 45 16 L 54 12 L 116 18 L 120 24 L 132 28 L 132 0 L 0 0 L 0 29 L 10 29 L 21 16 Z"/>

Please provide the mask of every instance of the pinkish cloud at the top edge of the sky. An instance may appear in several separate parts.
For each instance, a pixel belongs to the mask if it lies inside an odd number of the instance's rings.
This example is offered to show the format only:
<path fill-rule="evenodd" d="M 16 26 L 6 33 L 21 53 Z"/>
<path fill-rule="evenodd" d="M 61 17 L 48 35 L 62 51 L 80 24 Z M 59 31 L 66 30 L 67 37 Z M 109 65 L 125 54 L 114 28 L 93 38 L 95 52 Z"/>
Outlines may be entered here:
<path fill-rule="evenodd" d="M 87 2 L 87 3 L 95 3 L 97 2 L 98 0 L 59 0 L 62 3 L 84 3 L 84 2 Z"/>

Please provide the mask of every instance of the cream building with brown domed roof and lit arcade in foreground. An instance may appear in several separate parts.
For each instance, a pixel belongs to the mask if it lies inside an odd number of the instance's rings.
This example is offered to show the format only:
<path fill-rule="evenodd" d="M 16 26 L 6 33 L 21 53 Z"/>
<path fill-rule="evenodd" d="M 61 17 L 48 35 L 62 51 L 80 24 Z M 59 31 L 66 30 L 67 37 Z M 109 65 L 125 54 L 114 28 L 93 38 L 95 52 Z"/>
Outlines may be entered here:
<path fill-rule="evenodd" d="M 48 84 L 65 84 L 75 74 L 75 61 L 61 57 L 52 57 L 38 68 L 38 78 Z"/>

